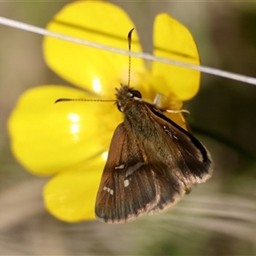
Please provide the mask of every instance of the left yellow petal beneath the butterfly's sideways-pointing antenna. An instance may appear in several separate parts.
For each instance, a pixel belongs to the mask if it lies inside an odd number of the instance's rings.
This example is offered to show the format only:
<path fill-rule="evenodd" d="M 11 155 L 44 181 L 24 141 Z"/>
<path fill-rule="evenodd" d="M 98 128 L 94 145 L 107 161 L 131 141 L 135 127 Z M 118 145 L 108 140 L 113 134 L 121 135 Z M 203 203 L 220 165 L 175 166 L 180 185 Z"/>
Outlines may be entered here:
<path fill-rule="evenodd" d="M 48 175 L 108 151 L 121 121 L 113 102 L 55 104 L 64 97 L 90 99 L 81 90 L 40 86 L 20 96 L 9 118 L 13 152 L 30 172 Z"/>

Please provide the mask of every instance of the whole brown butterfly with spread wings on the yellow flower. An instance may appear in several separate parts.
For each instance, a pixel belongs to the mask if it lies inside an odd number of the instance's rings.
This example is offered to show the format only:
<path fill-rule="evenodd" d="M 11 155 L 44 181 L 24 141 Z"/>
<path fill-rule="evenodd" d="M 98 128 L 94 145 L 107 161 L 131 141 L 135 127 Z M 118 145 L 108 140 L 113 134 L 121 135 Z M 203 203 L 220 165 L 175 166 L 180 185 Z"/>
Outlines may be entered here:
<path fill-rule="evenodd" d="M 121 84 L 124 122 L 113 133 L 96 197 L 96 218 L 125 223 L 172 207 L 212 175 L 211 155 L 141 93 Z"/>

